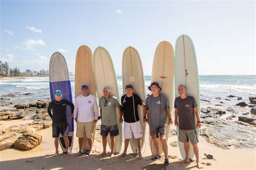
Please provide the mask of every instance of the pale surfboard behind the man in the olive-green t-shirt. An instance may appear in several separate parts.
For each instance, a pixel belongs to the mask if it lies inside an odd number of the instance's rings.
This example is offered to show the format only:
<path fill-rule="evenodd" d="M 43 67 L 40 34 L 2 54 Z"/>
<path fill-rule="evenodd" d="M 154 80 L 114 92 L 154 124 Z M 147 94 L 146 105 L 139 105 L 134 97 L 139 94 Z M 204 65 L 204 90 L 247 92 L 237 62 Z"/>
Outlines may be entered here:
<path fill-rule="evenodd" d="M 110 87 L 111 94 L 116 96 L 118 101 L 120 102 L 118 85 L 117 85 L 117 77 L 116 72 L 114 71 L 113 62 L 109 52 L 102 46 L 98 46 L 93 53 L 93 66 L 95 72 L 96 79 L 96 87 L 98 100 L 103 96 L 103 88 Z M 122 140 L 123 140 L 123 129 L 122 124 L 119 123 L 119 110 L 116 107 L 116 115 L 117 115 L 117 125 L 119 130 L 119 135 L 114 137 L 114 153 L 119 153 L 122 148 Z M 111 149 L 111 139 L 110 135 L 107 135 L 107 144 Z"/>

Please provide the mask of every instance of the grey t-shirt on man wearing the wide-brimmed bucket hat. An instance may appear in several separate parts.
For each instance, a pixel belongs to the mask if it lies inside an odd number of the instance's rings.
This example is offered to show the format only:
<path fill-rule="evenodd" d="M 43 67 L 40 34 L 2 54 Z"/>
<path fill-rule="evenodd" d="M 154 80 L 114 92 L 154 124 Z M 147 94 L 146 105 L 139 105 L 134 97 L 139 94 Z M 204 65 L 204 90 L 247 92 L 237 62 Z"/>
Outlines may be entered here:
<path fill-rule="evenodd" d="M 169 101 L 164 94 L 153 97 L 152 94 L 146 98 L 146 109 L 149 111 L 149 126 L 158 128 L 166 126 L 166 111 L 170 108 Z"/>

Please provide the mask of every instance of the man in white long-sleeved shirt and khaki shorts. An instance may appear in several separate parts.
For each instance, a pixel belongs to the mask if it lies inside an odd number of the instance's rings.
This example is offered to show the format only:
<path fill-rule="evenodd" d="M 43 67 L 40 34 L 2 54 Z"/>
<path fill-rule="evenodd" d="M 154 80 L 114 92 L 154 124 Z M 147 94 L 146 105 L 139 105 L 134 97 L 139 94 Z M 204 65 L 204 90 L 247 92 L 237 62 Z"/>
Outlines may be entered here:
<path fill-rule="evenodd" d="M 90 87 L 87 84 L 81 86 L 82 94 L 76 97 L 74 119 L 77 123 L 77 134 L 79 143 L 79 152 L 77 155 L 82 154 L 84 135 L 86 134 L 89 144 L 89 152 L 92 155 L 92 133 L 93 123 L 98 121 L 98 106 L 96 97 L 90 94 Z"/>

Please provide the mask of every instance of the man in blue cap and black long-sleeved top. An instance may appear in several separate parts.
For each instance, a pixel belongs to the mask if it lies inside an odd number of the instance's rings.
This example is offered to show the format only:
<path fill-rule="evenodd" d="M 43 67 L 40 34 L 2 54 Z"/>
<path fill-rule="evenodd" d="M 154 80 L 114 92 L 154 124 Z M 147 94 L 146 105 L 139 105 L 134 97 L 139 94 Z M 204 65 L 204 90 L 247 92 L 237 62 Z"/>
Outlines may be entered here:
<path fill-rule="evenodd" d="M 66 99 L 62 99 L 62 92 L 60 90 L 56 90 L 54 94 L 55 100 L 51 101 L 48 105 L 47 111 L 52 119 L 52 138 L 54 138 L 54 145 L 56 152 L 55 154 L 59 154 L 58 151 L 58 139 L 59 133 L 62 134 L 63 139 L 65 141 L 66 146 L 66 154 L 70 155 L 69 152 L 69 127 L 66 121 L 66 105 L 71 106 L 71 111 L 74 110 L 74 105 Z M 51 113 L 52 110 L 52 113 Z"/>

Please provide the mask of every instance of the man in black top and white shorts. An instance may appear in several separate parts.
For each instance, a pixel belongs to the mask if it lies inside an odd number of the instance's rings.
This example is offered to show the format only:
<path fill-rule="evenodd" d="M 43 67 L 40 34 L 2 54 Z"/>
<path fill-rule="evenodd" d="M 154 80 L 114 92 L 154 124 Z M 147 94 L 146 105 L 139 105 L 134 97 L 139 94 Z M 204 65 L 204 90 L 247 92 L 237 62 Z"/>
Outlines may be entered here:
<path fill-rule="evenodd" d="M 125 157 L 127 152 L 127 147 L 129 145 L 129 140 L 132 138 L 132 134 L 137 141 L 138 145 L 138 159 L 141 160 L 142 152 L 140 138 L 143 137 L 142 125 L 140 124 L 138 105 L 143 107 L 143 112 L 145 115 L 145 104 L 142 99 L 136 94 L 133 94 L 132 85 L 125 86 L 126 94 L 121 98 L 121 104 L 123 107 L 123 112 L 120 113 L 120 123 L 123 122 L 124 117 L 124 152 L 119 155 L 119 157 Z M 122 114 L 123 113 L 123 114 Z"/>

